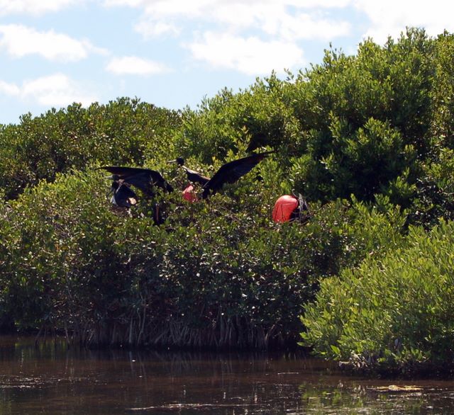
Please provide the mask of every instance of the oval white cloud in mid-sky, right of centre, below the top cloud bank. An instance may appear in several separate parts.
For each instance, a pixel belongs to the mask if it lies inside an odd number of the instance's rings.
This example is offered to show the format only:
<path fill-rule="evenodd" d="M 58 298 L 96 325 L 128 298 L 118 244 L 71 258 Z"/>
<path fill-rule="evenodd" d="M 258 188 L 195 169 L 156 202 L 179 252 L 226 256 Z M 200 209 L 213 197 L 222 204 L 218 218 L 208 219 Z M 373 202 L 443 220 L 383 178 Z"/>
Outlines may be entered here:
<path fill-rule="evenodd" d="M 195 59 L 208 62 L 221 69 L 236 69 L 245 74 L 270 74 L 272 70 L 301 65 L 303 52 L 292 42 L 258 38 L 241 38 L 235 35 L 205 33 L 203 38 L 188 45 Z"/>

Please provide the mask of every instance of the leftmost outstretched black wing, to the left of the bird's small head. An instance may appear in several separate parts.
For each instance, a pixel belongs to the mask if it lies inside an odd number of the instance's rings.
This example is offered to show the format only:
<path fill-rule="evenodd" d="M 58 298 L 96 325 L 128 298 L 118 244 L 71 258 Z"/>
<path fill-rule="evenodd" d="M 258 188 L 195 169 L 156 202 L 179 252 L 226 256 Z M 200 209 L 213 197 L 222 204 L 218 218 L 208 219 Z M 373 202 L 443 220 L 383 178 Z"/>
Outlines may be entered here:
<path fill-rule="evenodd" d="M 168 193 L 173 191 L 172 186 L 165 181 L 159 171 L 125 166 L 103 166 L 99 167 L 99 169 L 109 171 L 112 174 L 111 178 L 114 183 L 126 183 L 134 186 L 150 197 L 155 195 L 154 186 L 162 188 Z"/>

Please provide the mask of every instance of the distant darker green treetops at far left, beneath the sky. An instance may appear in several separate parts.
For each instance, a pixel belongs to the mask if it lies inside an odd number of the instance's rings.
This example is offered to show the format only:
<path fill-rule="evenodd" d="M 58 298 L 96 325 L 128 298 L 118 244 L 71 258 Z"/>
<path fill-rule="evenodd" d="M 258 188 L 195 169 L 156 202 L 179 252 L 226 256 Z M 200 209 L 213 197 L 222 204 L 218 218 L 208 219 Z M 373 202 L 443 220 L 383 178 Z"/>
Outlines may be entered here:
<path fill-rule="evenodd" d="M 118 98 L 106 106 L 73 104 L 0 130 L 0 176 L 6 196 L 59 172 L 102 164 L 143 164 L 145 154 L 169 151 L 179 113 L 137 99 Z"/>

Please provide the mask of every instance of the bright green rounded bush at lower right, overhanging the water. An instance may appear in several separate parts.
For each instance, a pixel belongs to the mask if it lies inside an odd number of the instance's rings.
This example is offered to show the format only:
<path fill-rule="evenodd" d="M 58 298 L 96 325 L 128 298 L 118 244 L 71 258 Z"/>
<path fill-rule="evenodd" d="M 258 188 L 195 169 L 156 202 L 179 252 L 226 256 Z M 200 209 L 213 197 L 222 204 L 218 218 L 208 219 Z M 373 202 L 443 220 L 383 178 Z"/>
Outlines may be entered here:
<path fill-rule="evenodd" d="M 380 260 L 323 280 L 302 319 L 304 343 L 353 368 L 452 368 L 453 230 L 452 222 L 428 234 L 412 228 Z"/>

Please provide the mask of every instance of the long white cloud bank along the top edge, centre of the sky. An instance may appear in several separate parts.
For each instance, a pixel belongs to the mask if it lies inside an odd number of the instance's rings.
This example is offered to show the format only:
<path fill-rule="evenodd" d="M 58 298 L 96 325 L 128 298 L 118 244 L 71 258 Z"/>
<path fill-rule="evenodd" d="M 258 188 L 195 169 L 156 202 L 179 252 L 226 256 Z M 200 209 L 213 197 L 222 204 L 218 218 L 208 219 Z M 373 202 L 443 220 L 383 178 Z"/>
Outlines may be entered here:
<path fill-rule="evenodd" d="M 278 38 L 329 39 L 346 35 L 350 25 L 330 20 L 323 11 L 343 8 L 353 0 L 105 0 L 106 6 L 143 9 L 135 30 L 145 37 L 178 34 L 189 22 L 222 25 L 236 33 L 254 29 Z M 322 11 L 322 12 L 321 12 Z"/>

